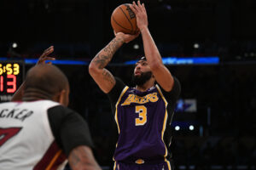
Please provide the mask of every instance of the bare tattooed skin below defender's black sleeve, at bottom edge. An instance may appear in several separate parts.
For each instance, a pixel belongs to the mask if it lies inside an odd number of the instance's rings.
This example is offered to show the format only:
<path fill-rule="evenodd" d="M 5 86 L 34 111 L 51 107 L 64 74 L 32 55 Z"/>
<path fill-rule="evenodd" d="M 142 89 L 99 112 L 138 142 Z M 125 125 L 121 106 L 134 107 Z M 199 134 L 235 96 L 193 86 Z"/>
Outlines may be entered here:
<path fill-rule="evenodd" d="M 74 148 L 69 156 L 68 163 L 73 170 L 101 170 L 97 164 L 92 151 L 87 146 Z"/>

